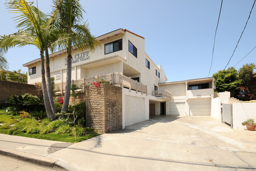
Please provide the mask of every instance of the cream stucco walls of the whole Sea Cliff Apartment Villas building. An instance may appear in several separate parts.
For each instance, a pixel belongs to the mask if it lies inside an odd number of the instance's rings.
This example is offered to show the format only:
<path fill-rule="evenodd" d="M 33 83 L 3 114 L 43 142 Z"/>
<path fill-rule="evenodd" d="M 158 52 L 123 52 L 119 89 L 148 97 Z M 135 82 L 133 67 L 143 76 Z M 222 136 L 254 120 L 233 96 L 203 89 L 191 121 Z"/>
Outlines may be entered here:
<path fill-rule="evenodd" d="M 123 128 L 139 121 L 148 120 L 149 114 L 195 115 L 195 111 L 199 110 L 195 107 L 200 103 L 210 108 L 209 104 L 213 98 L 213 78 L 166 83 L 167 78 L 161 65 L 155 64 L 145 52 L 145 39 L 143 37 L 126 29 L 117 29 L 101 35 L 97 39 L 100 41 L 101 47 L 95 51 L 72 51 L 71 79 L 80 80 L 96 75 L 122 73 L 131 79 L 138 80 L 143 85 L 147 85 L 147 94 L 122 88 Z M 121 45 L 118 45 L 119 50 L 113 48 L 113 52 L 108 53 L 108 45 L 113 44 L 114 46 L 115 42 L 121 42 Z M 132 48 L 136 49 L 137 55 L 129 51 L 131 45 Z M 122 46 L 121 49 L 120 46 Z M 66 64 L 67 53 L 65 51 L 58 51 L 50 55 L 50 71 L 51 76 L 55 78 L 55 83 L 65 82 Z M 35 67 L 35 73 L 28 75 L 28 84 L 41 82 L 40 59 L 23 64 L 23 66 L 28 67 L 28 73 Z M 209 83 L 209 88 L 188 90 L 189 85 L 199 83 Z M 155 92 L 155 90 L 159 92 Z M 171 92 L 171 96 L 159 97 L 163 93 L 160 92 L 162 90 Z M 202 101 L 206 101 L 205 104 Z M 208 114 L 208 109 L 203 112 Z"/>

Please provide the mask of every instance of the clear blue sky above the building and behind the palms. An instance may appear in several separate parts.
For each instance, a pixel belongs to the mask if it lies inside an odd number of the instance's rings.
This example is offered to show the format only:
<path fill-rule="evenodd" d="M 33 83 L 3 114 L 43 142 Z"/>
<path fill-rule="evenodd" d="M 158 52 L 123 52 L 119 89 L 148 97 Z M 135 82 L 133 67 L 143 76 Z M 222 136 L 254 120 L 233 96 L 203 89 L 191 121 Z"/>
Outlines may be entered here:
<path fill-rule="evenodd" d="M 145 37 L 145 52 L 160 64 L 168 81 L 208 77 L 215 29 L 221 0 L 80 0 L 93 35 L 115 29 L 128 29 Z M 245 27 L 254 0 L 224 0 L 213 64 L 209 77 L 223 70 Z M 38 0 L 44 13 L 51 11 L 51 0 Z M 17 32 L 13 18 L 3 2 L 0 6 L 0 35 Z M 228 67 L 234 66 L 256 46 L 256 6 Z M 22 64 L 39 58 L 33 46 L 10 49 L 6 54 L 9 70 L 26 72 Z M 256 64 L 256 48 L 235 66 Z"/>

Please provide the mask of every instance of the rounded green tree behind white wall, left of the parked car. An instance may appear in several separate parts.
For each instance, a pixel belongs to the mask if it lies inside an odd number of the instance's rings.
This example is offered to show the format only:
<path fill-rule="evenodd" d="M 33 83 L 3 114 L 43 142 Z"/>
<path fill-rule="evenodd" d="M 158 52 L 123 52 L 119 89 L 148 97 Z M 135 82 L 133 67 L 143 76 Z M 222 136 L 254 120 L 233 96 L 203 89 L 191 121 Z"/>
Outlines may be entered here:
<path fill-rule="evenodd" d="M 219 70 L 217 73 L 213 74 L 213 77 L 216 85 L 215 92 L 228 91 L 231 96 L 234 95 L 236 88 L 239 87 L 242 82 L 234 67 L 230 67 L 227 70 Z"/>

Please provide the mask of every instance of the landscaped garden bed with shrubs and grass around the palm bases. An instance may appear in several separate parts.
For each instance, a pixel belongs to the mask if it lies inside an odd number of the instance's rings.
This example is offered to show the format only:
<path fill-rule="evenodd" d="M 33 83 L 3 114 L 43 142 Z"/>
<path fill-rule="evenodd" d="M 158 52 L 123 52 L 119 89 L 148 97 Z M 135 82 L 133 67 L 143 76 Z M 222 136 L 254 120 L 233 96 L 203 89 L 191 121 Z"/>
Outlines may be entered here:
<path fill-rule="evenodd" d="M 48 120 L 42 97 L 29 94 L 11 96 L 6 103 L 9 107 L 0 110 L 2 134 L 73 143 L 101 133 L 92 127 L 85 127 L 85 101 L 69 105 L 67 113 L 60 114 L 63 105 L 60 97 L 54 103 L 57 111 L 54 121 Z"/>

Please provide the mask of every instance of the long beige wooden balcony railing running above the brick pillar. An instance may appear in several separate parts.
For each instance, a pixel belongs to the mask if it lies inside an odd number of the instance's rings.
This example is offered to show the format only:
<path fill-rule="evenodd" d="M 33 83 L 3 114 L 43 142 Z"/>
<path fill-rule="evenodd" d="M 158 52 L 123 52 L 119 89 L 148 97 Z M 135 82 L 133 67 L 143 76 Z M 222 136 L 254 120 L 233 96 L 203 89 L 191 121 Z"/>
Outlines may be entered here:
<path fill-rule="evenodd" d="M 99 79 L 108 81 L 112 85 L 120 85 L 121 87 L 129 88 L 130 92 L 131 90 L 135 90 L 136 93 L 141 92 L 141 94 L 146 93 L 146 96 L 148 95 L 147 85 L 134 81 L 131 77 L 126 77 L 122 73 L 118 72 L 107 75 L 97 75 L 91 78 L 72 80 L 71 84 L 76 84 L 76 86 L 78 86 L 79 89 L 77 91 L 85 92 L 85 85 L 90 85 L 93 82 L 99 81 Z M 65 84 L 65 82 L 55 84 L 57 94 L 63 94 L 65 92 Z"/>

